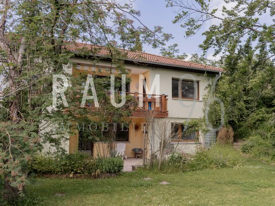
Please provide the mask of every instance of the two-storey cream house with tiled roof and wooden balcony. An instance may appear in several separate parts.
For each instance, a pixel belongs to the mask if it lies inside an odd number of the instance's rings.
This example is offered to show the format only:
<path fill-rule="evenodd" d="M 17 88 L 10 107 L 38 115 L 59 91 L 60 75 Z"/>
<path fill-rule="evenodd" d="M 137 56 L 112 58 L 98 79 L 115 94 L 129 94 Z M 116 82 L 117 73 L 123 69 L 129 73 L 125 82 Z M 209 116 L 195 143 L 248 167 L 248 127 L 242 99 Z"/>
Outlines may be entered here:
<path fill-rule="evenodd" d="M 90 47 L 87 44 L 74 43 L 68 45 L 66 49 L 75 52 L 78 49 L 89 49 Z M 110 69 L 113 69 L 114 74 L 117 72 L 104 48 L 99 50 L 97 55 L 105 58 L 93 64 L 87 58 L 77 56 L 76 53 L 72 59 L 76 66 L 66 69 L 71 74 L 85 70 L 89 74 L 100 72 L 100 75 L 103 76 L 104 73 L 109 73 Z M 116 142 L 126 144 L 126 155 L 134 157 L 133 148 L 147 148 L 148 153 L 158 150 L 160 138 L 157 133 L 163 131 L 160 127 L 164 125 L 167 135 L 173 134 L 173 138 L 170 138 L 169 144 L 166 145 L 167 147 L 185 153 L 194 153 L 198 143 L 203 143 L 204 134 L 201 134 L 200 131 L 194 131 L 186 135 L 183 121 L 188 118 L 204 116 L 203 98 L 207 93 L 207 86 L 212 81 L 210 75 L 205 74 L 218 74 L 222 72 L 222 69 L 154 54 L 130 51 L 127 51 L 125 65 L 131 77 L 127 95 L 143 97 L 143 111 L 133 111 L 131 125 L 128 130 L 117 132 L 116 135 Z M 158 76 L 160 91 L 157 93 L 154 89 L 150 91 L 150 94 L 146 94 L 146 90 L 140 88 L 139 85 L 140 74 L 143 75 L 149 90 L 155 86 L 154 80 Z M 181 78 L 183 80 L 180 80 Z M 155 121 L 150 131 L 143 130 L 146 122 L 146 112 L 144 110 L 156 111 L 154 113 Z M 93 156 L 104 152 L 106 146 L 104 143 L 83 142 L 82 138 L 80 131 L 76 131 L 75 135 L 71 135 L 64 146 L 67 152 L 89 152 Z"/>

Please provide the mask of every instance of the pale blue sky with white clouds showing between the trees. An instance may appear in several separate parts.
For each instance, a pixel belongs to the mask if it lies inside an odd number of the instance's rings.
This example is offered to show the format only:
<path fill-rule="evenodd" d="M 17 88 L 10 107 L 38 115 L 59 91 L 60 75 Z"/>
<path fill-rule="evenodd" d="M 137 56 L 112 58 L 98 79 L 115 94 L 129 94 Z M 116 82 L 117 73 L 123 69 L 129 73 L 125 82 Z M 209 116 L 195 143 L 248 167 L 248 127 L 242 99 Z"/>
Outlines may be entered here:
<path fill-rule="evenodd" d="M 173 24 L 172 21 L 176 15 L 175 8 L 166 8 L 165 0 L 117 0 L 119 3 L 132 3 L 135 10 L 140 11 L 141 16 L 139 19 L 142 23 L 144 23 L 149 28 L 153 28 L 153 26 L 158 25 L 163 27 L 163 31 L 166 33 L 171 33 L 174 38 L 167 43 L 167 46 L 173 45 L 175 43 L 178 44 L 179 54 L 186 53 L 189 55 L 198 53 L 202 55 L 203 52 L 199 48 L 199 45 L 203 43 L 205 36 L 202 33 L 209 28 L 212 24 L 219 24 L 220 20 L 211 19 L 203 25 L 203 27 L 197 32 L 197 34 L 185 38 L 184 32 L 185 28 L 180 26 L 180 23 Z M 191 3 L 192 0 L 183 0 Z M 234 2 L 225 3 L 221 0 L 211 0 L 210 1 L 210 9 L 218 9 L 216 15 L 221 16 L 221 9 L 223 6 L 226 8 L 232 8 L 236 5 Z M 261 22 L 267 24 L 273 24 L 272 19 L 267 14 L 263 14 L 262 16 L 258 16 Z M 160 49 L 152 49 L 150 46 L 144 45 L 143 50 L 147 53 L 151 54 L 160 54 Z M 210 49 L 206 58 L 212 60 L 218 60 L 221 54 L 218 54 L 216 57 L 213 56 L 214 50 Z"/>

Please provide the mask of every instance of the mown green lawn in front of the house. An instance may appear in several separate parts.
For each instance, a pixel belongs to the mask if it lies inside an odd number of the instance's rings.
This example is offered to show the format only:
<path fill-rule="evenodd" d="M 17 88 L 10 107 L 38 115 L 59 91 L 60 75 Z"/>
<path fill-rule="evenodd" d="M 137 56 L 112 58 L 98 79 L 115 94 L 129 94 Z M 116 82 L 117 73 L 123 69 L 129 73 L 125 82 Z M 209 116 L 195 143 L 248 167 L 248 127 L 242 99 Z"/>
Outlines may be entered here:
<path fill-rule="evenodd" d="M 160 184 L 163 181 L 170 184 Z M 26 193 L 29 205 L 275 205 L 275 169 L 249 161 L 236 169 L 137 171 L 93 180 L 34 179 Z"/>

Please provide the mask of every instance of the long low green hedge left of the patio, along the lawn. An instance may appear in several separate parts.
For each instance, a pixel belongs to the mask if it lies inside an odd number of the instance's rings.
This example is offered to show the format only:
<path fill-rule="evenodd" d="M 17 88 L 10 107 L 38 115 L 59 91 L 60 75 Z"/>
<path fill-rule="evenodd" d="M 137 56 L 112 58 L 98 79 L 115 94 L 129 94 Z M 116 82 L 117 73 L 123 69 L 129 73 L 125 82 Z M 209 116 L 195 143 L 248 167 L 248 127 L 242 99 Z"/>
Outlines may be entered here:
<path fill-rule="evenodd" d="M 38 155 L 29 161 L 30 173 L 38 175 L 117 173 L 123 170 L 123 160 L 119 157 L 93 160 L 87 154 L 63 154 L 58 157 Z"/>

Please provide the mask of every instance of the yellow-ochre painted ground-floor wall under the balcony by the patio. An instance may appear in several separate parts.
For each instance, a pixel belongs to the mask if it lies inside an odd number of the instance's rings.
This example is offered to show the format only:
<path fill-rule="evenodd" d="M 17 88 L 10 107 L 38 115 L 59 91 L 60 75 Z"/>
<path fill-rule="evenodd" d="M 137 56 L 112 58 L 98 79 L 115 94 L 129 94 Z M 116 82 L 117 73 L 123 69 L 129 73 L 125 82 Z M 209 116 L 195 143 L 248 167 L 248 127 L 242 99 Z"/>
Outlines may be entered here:
<path fill-rule="evenodd" d="M 119 143 L 125 143 L 126 144 L 126 151 L 125 154 L 127 157 L 134 157 L 134 152 L 132 151 L 133 148 L 142 148 L 143 149 L 143 133 L 142 133 L 142 127 L 141 130 L 138 132 L 135 132 L 134 130 L 134 123 L 144 123 L 144 118 L 132 118 L 131 125 L 129 127 L 129 142 L 119 142 Z M 106 154 L 107 152 L 107 145 L 102 142 L 94 143 L 94 157 L 97 157 L 98 155 Z"/>

